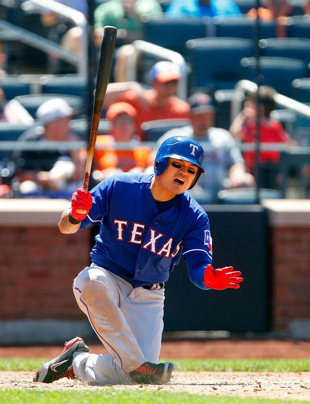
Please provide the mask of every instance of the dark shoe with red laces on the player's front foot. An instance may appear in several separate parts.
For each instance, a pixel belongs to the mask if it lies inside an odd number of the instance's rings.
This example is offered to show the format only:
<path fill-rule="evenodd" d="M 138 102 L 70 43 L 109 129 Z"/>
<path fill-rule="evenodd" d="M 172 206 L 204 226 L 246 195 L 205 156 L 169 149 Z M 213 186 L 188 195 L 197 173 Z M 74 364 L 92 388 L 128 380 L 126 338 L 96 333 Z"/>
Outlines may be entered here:
<path fill-rule="evenodd" d="M 130 378 L 139 384 L 167 384 L 171 379 L 172 371 L 175 369 L 173 363 L 142 363 L 139 368 L 129 372 Z"/>

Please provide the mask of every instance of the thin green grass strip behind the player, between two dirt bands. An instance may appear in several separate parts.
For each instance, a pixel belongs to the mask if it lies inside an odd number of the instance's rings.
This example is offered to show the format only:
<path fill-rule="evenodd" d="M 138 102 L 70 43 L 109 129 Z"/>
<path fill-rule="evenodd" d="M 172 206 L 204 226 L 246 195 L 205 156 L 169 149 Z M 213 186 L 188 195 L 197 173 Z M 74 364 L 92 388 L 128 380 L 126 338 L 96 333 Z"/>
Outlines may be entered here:
<path fill-rule="evenodd" d="M 1 371 L 36 371 L 49 359 L 0 359 Z M 310 372 L 310 359 L 167 359 L 177 371 Z"/>

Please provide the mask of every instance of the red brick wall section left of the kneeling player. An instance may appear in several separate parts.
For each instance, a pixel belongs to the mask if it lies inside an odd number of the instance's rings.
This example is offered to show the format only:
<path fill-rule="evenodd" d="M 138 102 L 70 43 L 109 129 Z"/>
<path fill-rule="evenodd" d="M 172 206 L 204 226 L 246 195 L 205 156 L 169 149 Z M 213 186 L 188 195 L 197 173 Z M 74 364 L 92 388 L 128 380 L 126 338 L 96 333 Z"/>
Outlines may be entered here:
<path fill-rule="evenodd" d="M 89 232 L 62 234 L 56 225 L 1 226 L 0 320 L 84 320 L 72 282 L 89 264 Z"/>

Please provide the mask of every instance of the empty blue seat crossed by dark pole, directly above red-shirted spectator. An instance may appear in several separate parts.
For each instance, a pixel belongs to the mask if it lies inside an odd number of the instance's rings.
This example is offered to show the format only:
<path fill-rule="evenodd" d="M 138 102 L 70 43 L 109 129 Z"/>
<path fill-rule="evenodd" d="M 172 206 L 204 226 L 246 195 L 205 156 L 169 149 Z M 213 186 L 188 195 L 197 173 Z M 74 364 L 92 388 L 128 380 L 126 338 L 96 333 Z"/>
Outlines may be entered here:
<path fill-rule="evenodd" d="M 244 79 L 256 80 L 256 59 L 245 58 L 241 60 L 244 68 Z M 291 58 L 277 58 L 263 56 L 260 58 L 261 85 L 269 85 L 280 94 L 292 97 L 293 89 L 288 83 L 294 79 L 307 77 L 309 73 L 307 63 Z"/>

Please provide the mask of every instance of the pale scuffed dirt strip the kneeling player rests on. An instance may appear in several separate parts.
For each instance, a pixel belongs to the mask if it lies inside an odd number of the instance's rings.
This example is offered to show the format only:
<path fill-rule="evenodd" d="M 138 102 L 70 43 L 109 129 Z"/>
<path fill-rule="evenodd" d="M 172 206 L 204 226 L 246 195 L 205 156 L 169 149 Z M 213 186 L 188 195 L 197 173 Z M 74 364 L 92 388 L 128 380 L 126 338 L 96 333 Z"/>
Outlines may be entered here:
<path fill-rule="evenodd" d="M 29 388 L 42 390 L 131 390 L 178 391 L 192 394 L 310 400 L 310 372 L 174 372 L 166 386 L 113 385 L 87 386 L 76 380 L 34 383 L 34 372 L 0 372 L 0 389 Z"/>

